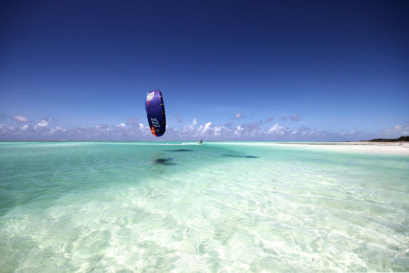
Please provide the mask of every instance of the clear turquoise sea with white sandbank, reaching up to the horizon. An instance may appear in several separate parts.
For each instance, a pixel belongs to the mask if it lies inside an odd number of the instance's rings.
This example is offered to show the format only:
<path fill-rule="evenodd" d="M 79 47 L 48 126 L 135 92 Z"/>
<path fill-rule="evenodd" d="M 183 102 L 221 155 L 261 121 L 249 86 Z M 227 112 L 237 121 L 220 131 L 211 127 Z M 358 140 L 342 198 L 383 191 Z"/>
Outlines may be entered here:
<path fill-rule="evenodd" d="M 409 271 L 409 148 L 0 142 L 1 272 Z"/>

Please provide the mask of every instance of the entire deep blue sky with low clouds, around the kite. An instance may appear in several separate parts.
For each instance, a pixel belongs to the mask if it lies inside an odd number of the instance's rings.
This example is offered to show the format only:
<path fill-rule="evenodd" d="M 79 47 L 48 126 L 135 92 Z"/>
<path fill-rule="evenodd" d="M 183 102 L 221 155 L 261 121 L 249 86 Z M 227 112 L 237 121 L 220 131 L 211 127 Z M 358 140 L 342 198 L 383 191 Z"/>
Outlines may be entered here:
<path fill-rule="evenodd" d="M 409 134 L 405 1 L 6 1 L 0 139 Z M 167 131 L 145 95 L 161 89 Z"/>

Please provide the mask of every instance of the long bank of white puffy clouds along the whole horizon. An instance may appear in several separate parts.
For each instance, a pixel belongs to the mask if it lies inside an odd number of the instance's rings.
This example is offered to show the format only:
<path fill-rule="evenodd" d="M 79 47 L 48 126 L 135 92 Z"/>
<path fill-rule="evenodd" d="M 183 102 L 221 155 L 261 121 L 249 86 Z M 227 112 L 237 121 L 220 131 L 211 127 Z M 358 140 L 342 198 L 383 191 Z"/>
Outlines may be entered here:
<path fill-rule="evenodd" d="M 241 112 L 237 115 L 241 115 Z M 236 116 L 237 116 L 236 115 Z M 18 117 L 18 118 L 16 118 Z M 12 120 L 29 122 L 25 116 L 12 116 Z M 271 122 L 274 118 L 267 118 Z M 300 115 L 294 114 L 293 121 L 300 121 Z M 372 138 L 396 138 L 409 134 L 409 122 L 406 125 L 396 125 L 372 134 L 359 130 L 330 132 L 311 129 L 304 125 L 289 127 L 278 122 L 264 127 L 265 122 L 243 123 L 233 126 L 233 123 L 215 125 L 213 122 L 198 124 L 196 119 L 181 128 L 167 125 L 166 134 L 161 138 L 152 137 L 147 123 L 139 123 L 139 118 L 130 117 L 125 122 L 116 125 L 101 124 L 93 127 L 62 128 L 50 126 L 57 119 L 41 119 L 36 125 L 25 124 L 6 125 L 0 123 L 1 140 L 172 140 L 172 141 L 358 141 Z"/>

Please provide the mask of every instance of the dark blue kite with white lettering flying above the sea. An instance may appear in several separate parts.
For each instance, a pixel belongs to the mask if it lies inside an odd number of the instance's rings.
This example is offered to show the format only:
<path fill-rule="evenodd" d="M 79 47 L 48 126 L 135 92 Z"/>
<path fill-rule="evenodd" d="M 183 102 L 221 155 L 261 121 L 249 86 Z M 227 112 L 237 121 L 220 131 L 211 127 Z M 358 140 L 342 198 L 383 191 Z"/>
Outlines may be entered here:
<path fill-rule="evenodd" d="M 153 90 L 146 94 L 145 110 L 152 134 L 155 137 L 161 137 L 166 130 L 165 107 L 161 90 Z"/>

